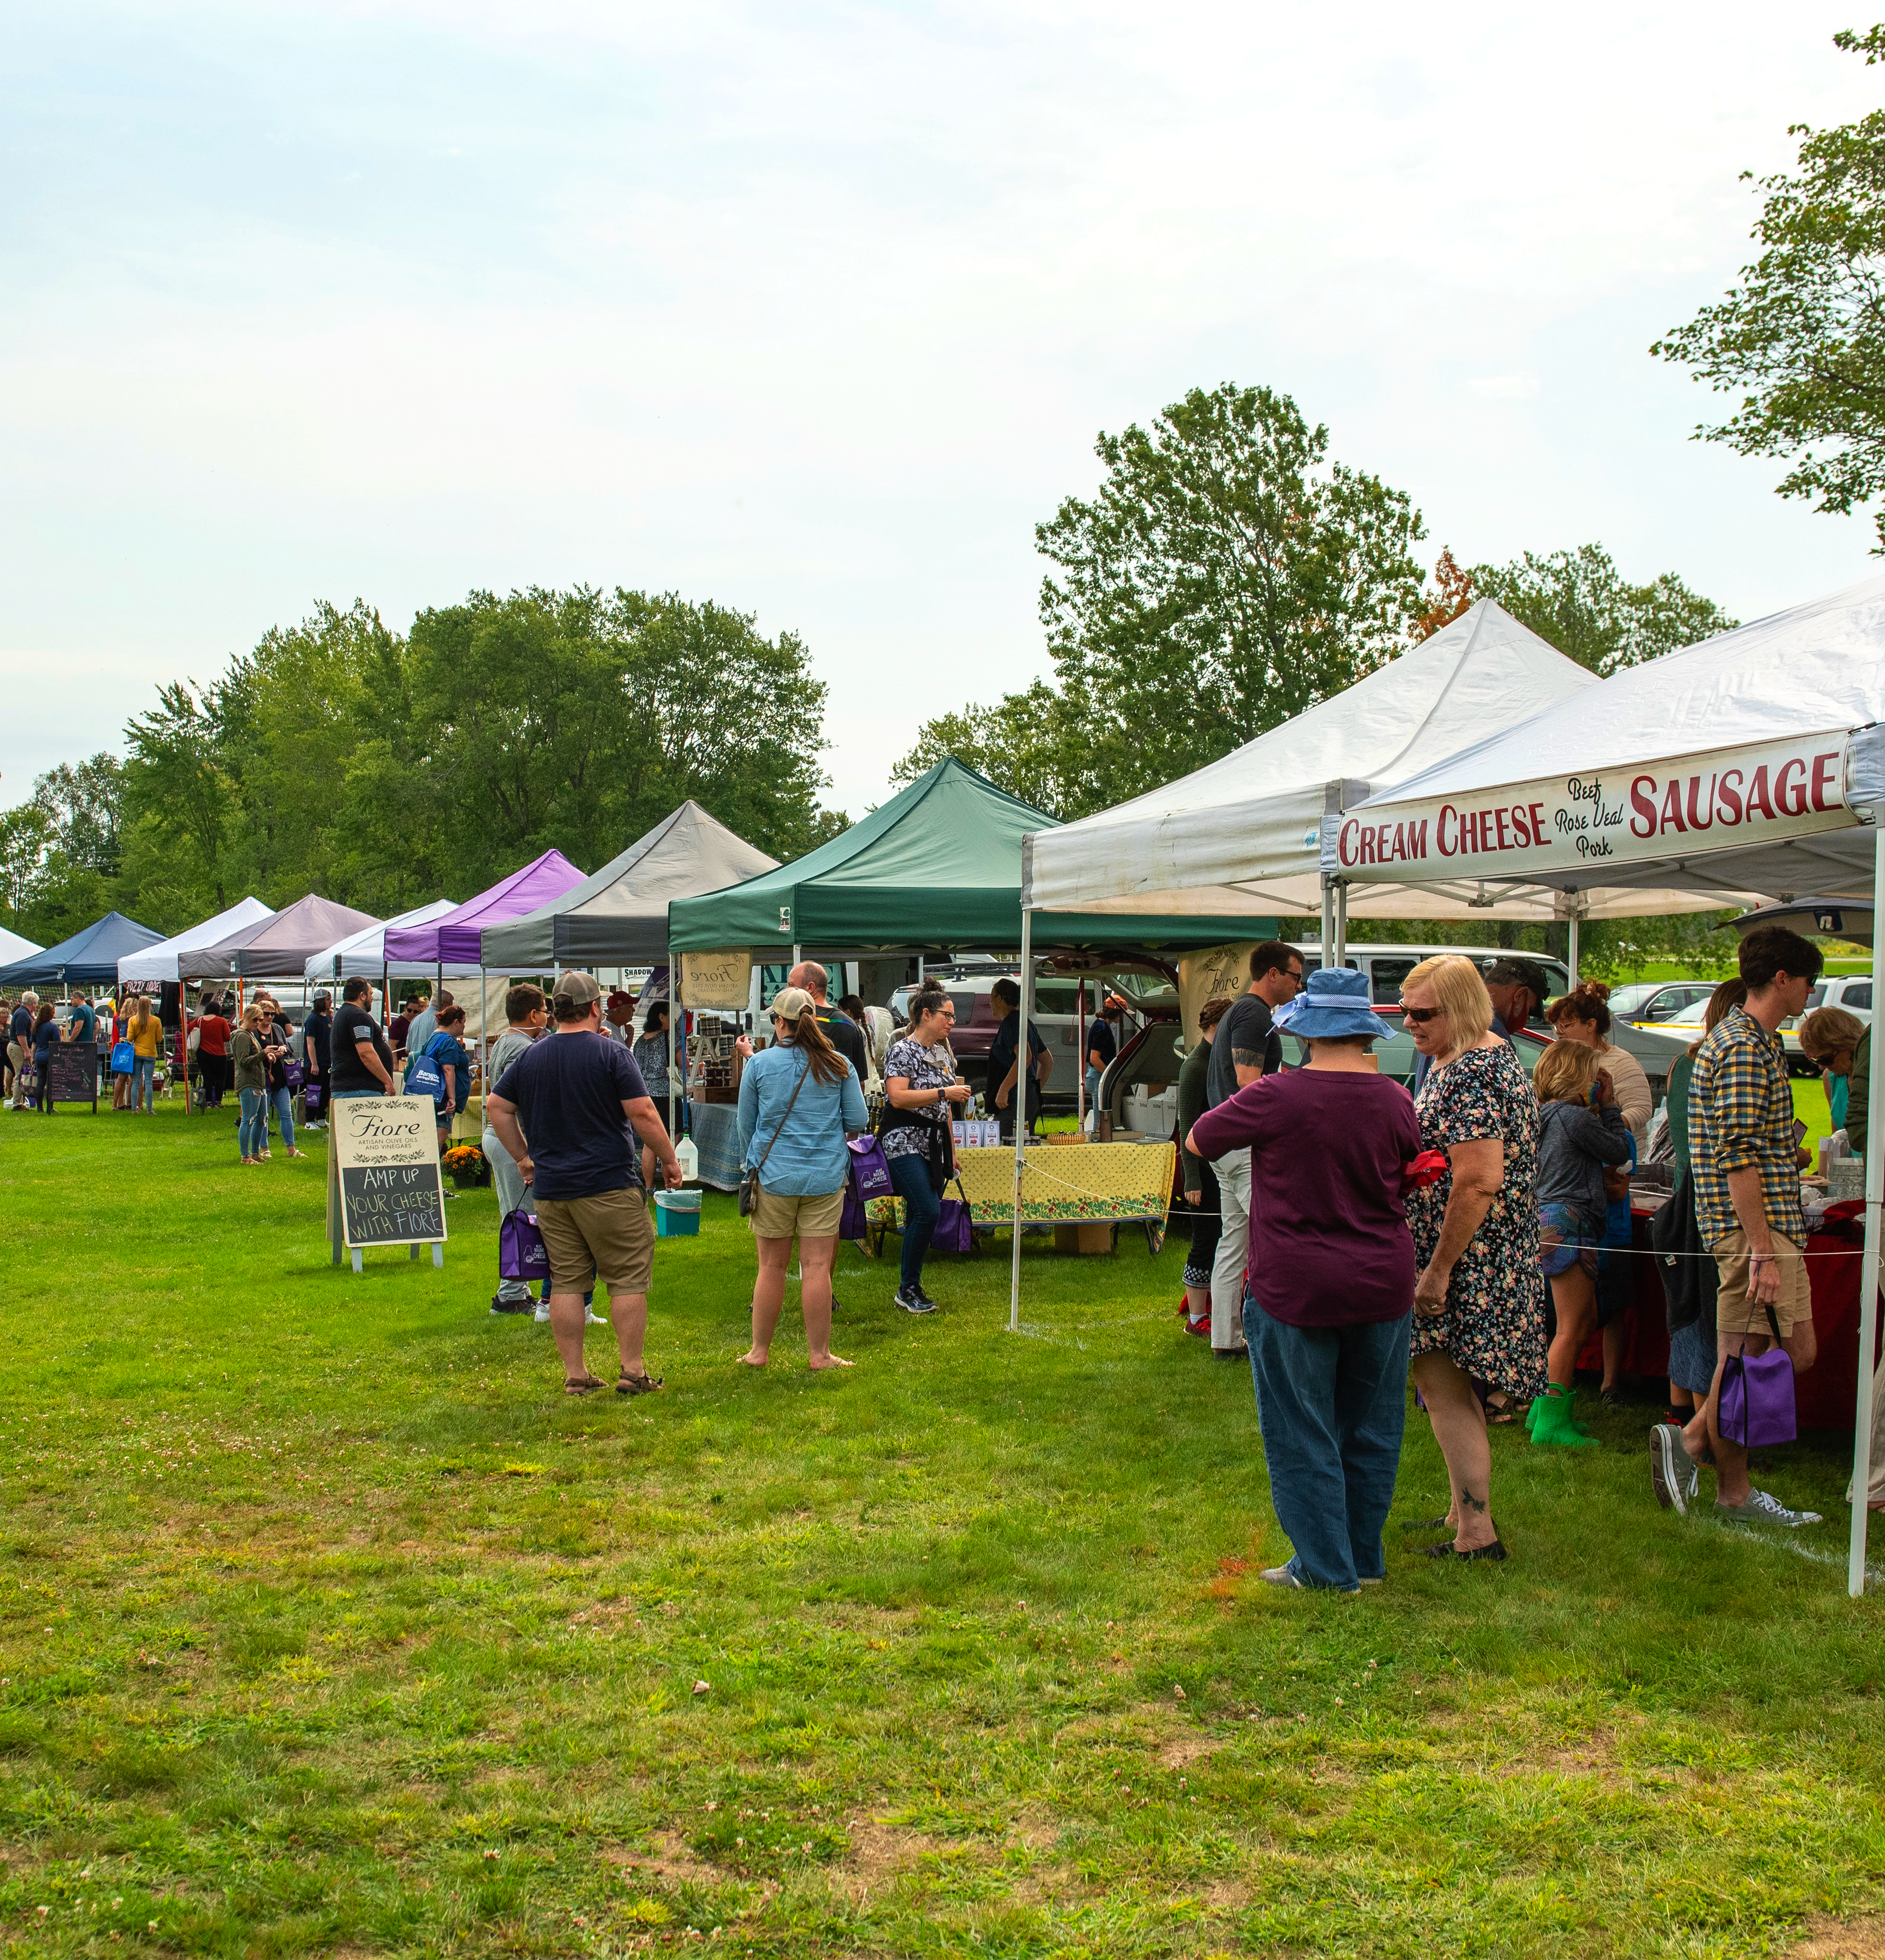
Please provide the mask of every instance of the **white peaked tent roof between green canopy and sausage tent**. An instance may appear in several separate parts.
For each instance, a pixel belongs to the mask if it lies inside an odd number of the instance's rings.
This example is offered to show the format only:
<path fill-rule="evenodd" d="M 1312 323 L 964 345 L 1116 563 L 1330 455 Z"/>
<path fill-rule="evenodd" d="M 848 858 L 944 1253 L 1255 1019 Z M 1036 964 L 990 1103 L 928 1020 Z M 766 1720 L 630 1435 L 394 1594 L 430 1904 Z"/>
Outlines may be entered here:
<path fill-rule="evenodd" d="M 1315 911 L 1330 798 L 1370 790 L 1560 704 L 1597 676 L 1495 600 L 1293 721 L 1031 847 L 1027 904 L 1129 911 Z"/>

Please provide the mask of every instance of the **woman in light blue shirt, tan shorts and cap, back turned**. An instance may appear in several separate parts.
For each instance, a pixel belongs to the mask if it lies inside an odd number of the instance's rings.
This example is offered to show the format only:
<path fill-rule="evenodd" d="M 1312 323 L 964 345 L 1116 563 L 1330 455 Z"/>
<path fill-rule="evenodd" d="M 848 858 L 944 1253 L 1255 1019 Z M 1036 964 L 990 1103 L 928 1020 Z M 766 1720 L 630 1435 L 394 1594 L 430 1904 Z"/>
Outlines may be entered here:
<path fill-rule="evenodd" d="M 796 1237 L 811 1366 L 848 1368 L 848 1360 L 831 1352 L 831 1262 L 845 1213 L 845 1137 L 870 1117 L 850 1062 L 819 1027 L 815 1002 L 803 988 L 788 986 L 772 1002 L 772 1033 L 774 1045 L 760 1054 L 745 1037 L 739 1041 L 741 1162 L 758 1174 L 752 1347 L 741 1360 L 749 1368 L 766 1366 Z"/>

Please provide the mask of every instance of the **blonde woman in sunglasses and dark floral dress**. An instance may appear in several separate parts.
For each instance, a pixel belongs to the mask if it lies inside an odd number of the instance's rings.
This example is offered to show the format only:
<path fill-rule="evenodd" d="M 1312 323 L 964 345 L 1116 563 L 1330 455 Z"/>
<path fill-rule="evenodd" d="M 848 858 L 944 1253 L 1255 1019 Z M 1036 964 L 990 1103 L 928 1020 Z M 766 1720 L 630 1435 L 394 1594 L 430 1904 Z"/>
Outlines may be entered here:
<path fill-rule="evenodd" d="M 1413 1227 L 1413 1378 L 1446 1458 L 1454 1539 L 1432 1558 L 1505 1558 L 1491 1511 L 1485 1382 L 1513 1401 L 1544 1394 L 1544 1274 L 1538 1270 L 1538 1100 L 1511 1045 L 1491 1033 L 1479 968 L 1448 953 L 1401 982 L 1401 1017 L 1428 1056 L 1415 1098 L 1421 1149 L 1446 1174 L 1407 1198 Z"/>

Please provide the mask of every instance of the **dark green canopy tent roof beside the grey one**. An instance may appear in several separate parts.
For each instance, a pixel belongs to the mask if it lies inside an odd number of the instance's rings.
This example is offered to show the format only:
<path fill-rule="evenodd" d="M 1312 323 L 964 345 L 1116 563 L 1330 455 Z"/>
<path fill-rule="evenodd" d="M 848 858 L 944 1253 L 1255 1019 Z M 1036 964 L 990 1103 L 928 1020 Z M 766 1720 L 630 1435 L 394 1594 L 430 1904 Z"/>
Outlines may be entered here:
<path fill-rule="evenodd" d="M 944 757 L 907 790 L 778 870 L 668 906 L 672 953 L 858 958 L 1021 945 L 1021 857 L 1058 821 Z M 1276 919 L 1037 911 L 1037 953 L 1182 953 L 1262 939 Z"/>

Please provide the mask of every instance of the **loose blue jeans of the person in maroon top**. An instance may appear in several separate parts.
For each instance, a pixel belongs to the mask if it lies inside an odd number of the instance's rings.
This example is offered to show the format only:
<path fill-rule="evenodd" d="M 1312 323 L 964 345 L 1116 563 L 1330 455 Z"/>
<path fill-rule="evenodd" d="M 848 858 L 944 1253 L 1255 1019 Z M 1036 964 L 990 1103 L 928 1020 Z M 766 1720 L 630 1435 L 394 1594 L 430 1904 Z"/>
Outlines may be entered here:
<path fill-rule="evenodd" d="M 1401 1468 L 1411 1321 L 1291 1327 L 1244 1296 L 1270 1501 L 1305 1586 L 1354 1592 L 1387 1570 L 1381 1527 Z"/>

